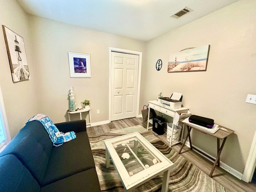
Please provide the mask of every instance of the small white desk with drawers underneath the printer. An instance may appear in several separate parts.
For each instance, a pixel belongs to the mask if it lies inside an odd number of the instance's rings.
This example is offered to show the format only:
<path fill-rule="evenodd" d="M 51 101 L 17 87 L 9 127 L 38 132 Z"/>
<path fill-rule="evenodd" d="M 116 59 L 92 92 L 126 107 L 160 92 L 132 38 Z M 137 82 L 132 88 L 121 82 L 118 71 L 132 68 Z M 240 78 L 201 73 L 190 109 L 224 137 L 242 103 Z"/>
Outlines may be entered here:
<path fill-rule="evenodd" d="M 176 108 L 176 109 L 172 109 L 164 104 L 161 104 L 160 102 L 158 101 L 148 101 L 149 102 L 149 107 L 148 107 L 148 124 L 147 124 L 147 130 L 148 130 L 148 125 L 149 125 L 149 115 L 150 115 L 150 108 L 156 110 L 156 111 L 159 111 L 161 112 L 162 114 L 166 114 L 170 117 L 173 118 L 173 123 L 172 123 L 172 130 L 174 128 L 174 125 L 178 125 L 178 122 L 180 119 L 184 119 L 186 118 L 188 115 L 180 115 L 180 113 L 187 113 L 189 112 L 188 111 L 188 108 L 186 107 L 181 107 L 181 108 Z M 183 133 L 184 133 L 184 127 L 182 128 L 182 135 L 181 135 L 181 138 L 183 138 Z M 170 138 L 170 141 L 172 141 L 172 136 Z M 174 145 L 174 144 L 178 144 L 182 141 L 179 141 L 179 142 L 176 142 L 176 143 L 173 143 L 171 144 L 170 142 L 170 146 L 171 145 Z"/>

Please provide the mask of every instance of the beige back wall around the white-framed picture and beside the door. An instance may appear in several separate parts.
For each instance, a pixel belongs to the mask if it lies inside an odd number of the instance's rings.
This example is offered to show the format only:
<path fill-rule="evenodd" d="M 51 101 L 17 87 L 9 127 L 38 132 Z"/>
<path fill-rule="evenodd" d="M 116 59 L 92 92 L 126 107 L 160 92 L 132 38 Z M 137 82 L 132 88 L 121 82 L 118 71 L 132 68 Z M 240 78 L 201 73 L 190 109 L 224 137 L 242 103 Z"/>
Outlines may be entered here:
<path fill-rule="evenodd" d="M 108 120 L 109 47 L 144 52 L 146 42 L 31 15 L 29 23 L 40 113 L 54 123 L 68 121 L 72 86 L 78 108 L 84 99 L 90 100 L 92 123 Z M 70 78 L 68 52 L 90 54 L 91 78 Z M 71 120 L 77 119 L 79 114 L 71 115 Z"/>

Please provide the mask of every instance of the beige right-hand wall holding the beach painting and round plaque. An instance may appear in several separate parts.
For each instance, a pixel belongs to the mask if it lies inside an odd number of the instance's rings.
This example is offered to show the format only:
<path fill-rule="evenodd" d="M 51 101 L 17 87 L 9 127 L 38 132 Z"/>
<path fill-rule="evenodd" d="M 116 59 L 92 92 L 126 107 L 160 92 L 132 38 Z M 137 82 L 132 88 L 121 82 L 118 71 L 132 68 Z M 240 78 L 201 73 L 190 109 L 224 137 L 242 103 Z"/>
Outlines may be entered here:
<path fill-rule="evenodd" d="M 162 92 L 183 94 L 182 104 L 192 114 L 213 118 L 234 130 L 221 161 L 243 173 L 256 128 L 256 105 L 245 103 L 256 94 L 256 1 L 240 0 L 146 44 L 142 103 Z M 210 44 L 206 72 L 167 73 L 170 53 Z M 156 71 L 155 64 L 163 66 Z M 142 105 L 141 103 L 141 105 Z M 216 139 L 194 131 L 192 143 L 216 156 Z"/>

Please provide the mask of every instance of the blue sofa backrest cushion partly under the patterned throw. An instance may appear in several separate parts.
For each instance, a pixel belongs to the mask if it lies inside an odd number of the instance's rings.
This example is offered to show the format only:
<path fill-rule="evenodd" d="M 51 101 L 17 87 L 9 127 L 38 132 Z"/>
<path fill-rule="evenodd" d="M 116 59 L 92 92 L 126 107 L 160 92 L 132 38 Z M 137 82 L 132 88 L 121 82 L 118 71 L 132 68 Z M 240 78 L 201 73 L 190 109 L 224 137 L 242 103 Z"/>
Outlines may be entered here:
<path fill-rule="evenodd" d="M 52 151 L 52 141 L 39 121 L 26 124 L 0 156 L 14 154 L 41 185 Z"/>

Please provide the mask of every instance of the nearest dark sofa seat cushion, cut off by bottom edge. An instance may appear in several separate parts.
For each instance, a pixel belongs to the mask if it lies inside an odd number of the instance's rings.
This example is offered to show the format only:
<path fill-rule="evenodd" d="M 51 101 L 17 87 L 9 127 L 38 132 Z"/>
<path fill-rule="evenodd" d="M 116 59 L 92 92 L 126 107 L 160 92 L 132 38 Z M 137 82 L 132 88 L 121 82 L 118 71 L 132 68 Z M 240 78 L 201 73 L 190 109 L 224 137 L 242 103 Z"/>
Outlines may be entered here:
<path fill-rule="evenodd" d="M 42 187 L 41 192 L 100 192 L 95 168 L 79 172 Z"/>

